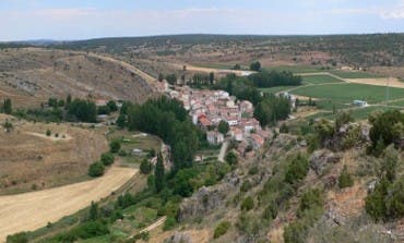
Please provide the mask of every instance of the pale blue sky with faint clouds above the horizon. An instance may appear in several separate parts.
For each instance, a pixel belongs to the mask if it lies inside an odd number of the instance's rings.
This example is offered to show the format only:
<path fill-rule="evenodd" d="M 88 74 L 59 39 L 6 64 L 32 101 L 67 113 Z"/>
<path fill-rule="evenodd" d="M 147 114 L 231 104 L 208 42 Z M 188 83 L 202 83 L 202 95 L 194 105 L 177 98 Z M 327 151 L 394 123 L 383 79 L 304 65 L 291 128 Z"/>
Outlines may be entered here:
<path fill-rule="evenodd" d="M 403 32 L 404 0 L 0 0 L 0 41 Z"/>

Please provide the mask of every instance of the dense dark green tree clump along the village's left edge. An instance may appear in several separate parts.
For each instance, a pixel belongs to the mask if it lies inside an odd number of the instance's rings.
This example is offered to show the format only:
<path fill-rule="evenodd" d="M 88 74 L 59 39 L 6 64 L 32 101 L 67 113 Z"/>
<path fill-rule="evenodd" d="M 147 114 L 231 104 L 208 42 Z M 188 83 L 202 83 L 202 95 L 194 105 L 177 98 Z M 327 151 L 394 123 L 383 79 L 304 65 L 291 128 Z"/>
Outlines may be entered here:
<path fill-rule="evenodd" d="M 175 170 L 192 166 L 195 151 L 204 134 L 188 118 L 178 100 L 162 96 L 143 105 L 124 104 L 118 126 L 159 136 L 170 145 Z"/>

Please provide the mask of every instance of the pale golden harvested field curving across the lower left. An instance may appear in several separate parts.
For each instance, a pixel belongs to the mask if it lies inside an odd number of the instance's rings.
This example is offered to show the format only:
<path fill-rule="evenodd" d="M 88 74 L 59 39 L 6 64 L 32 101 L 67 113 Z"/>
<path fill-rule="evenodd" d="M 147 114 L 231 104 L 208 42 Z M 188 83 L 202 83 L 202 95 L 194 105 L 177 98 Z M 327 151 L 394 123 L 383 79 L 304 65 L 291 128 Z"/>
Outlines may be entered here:
<path fill-rule="evenodd" d="M 19 195 L 0 196 L 0 242 L 8 234 L 35 230 L 72 215 L 110 195 L 138 170 L 112 167 L 104 177 L 61 187 Z"/>

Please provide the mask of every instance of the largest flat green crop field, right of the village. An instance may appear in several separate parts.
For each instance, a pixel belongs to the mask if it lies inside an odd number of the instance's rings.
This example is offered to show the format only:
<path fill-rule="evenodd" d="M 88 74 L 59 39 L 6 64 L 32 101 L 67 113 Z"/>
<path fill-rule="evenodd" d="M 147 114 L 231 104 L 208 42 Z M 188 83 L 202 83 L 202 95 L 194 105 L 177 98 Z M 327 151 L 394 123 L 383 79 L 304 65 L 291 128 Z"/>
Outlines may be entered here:
<path fill-rule="evenodd" d="M 385 99 L 385 87 L 366 84 L 330 84 L 302 86 L 293 92 L 296 95 L 332 100 L 337 104 L 352 104 L 355 99 L 379 104 Z M 390 99 L 404 98 L 403 88 L 390 88 Z"/>

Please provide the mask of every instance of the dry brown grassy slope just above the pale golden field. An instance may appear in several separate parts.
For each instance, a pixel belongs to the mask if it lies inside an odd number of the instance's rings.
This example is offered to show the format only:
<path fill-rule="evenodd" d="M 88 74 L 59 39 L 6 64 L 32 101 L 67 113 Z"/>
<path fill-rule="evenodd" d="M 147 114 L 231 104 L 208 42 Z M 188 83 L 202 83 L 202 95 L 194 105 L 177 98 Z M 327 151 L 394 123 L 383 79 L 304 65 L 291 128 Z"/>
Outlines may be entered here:
<path fill-rule="evenodd" d="M 108 144 L 102 131 L 69 124 L 9 119 L 14 126 L 0 135 L 0 194 L 43 190 L 87 179 L 87 167 Z M 46 136 L 50 130 L 51 135 Z M 58 137 L 56 137 L 58 134 Z"/>

